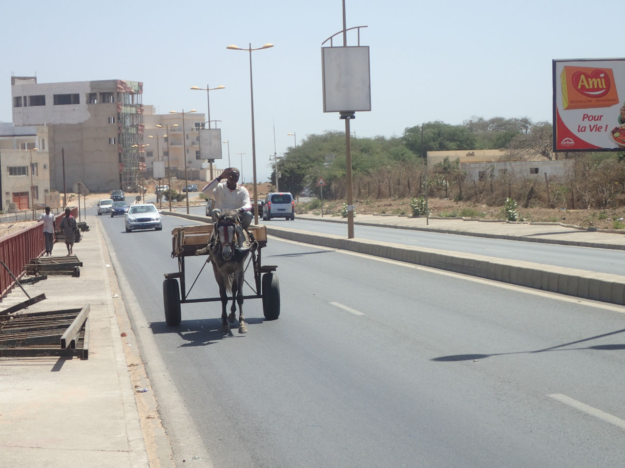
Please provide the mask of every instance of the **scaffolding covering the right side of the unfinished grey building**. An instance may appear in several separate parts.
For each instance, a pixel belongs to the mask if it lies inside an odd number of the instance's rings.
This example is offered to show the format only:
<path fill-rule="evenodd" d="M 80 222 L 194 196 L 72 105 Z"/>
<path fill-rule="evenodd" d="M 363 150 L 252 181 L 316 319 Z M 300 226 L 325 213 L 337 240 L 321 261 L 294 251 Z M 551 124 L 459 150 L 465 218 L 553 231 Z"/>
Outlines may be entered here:
<path fill-rule="evenodd" d="M 138 192 L 145 170 L 143 152 L 143 83 L 118 80 L 119 184 Z"/>

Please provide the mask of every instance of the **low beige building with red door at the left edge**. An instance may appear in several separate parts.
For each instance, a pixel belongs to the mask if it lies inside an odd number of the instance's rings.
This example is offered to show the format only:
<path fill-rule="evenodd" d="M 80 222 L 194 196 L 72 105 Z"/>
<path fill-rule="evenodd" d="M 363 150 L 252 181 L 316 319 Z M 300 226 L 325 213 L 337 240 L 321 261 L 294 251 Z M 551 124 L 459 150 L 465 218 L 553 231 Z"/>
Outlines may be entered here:
<path fill-rule="evenodd" d="M 50 201 L 48 142 L 48 127 L 0 123 L 0 210 L 56 205 Z"/>

